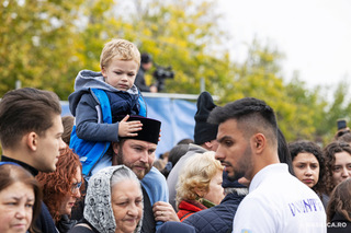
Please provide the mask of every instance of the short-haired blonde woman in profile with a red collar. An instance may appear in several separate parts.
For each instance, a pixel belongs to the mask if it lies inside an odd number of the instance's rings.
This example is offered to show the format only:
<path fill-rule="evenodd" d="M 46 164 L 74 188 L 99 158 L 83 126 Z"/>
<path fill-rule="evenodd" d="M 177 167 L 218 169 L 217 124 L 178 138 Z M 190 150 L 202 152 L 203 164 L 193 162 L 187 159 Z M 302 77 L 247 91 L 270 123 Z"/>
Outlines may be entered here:
<path fill-rule="evenodd" d="M 181 222 L 194 212 L 220 203 L 223 168 L 213 151 L 194 154 L 186 161 L 177 184 L 177 214 Z"/>

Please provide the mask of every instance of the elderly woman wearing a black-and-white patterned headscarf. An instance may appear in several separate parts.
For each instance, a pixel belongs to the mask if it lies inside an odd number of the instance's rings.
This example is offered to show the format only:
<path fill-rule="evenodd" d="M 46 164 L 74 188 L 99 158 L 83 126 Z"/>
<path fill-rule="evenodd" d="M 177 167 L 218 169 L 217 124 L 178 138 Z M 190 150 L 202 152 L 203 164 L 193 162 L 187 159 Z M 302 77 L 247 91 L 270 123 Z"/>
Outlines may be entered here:
<path fill-rule="evenodd" d="M 88 183 L 83 223 L 69 233 L 140 232 L 143 191 L 139 179 L 124 165 L 95 173 Z"/>

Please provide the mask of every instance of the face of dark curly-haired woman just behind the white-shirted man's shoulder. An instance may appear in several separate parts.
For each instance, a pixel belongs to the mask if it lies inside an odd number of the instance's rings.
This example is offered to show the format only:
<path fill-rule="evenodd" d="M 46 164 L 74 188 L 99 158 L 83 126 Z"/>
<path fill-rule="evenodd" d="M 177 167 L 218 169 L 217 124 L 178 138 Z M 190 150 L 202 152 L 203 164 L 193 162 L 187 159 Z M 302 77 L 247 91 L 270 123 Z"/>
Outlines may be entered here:
<path fill-rule="evenodd" d="M 308 187 L 314 187 L 319 179 L 319 162 L 313 153 L 298 153 L 293 160 L 295 176 Z"/>

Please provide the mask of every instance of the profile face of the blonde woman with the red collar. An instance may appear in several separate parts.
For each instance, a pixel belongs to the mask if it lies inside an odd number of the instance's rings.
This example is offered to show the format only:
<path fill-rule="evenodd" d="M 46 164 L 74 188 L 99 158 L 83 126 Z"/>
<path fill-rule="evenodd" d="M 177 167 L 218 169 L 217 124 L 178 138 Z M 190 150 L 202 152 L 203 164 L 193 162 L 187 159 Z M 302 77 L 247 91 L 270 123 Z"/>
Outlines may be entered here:
<path fill-rule="evenodd" d="M 224 188 L 222 187 L 223 172 L 218 170 L 216 175 L 210 182 L 208 193 L 204 195 L 204 198 L 214 202 L 215 205 L 219 205 L 224 198 Z"/>

